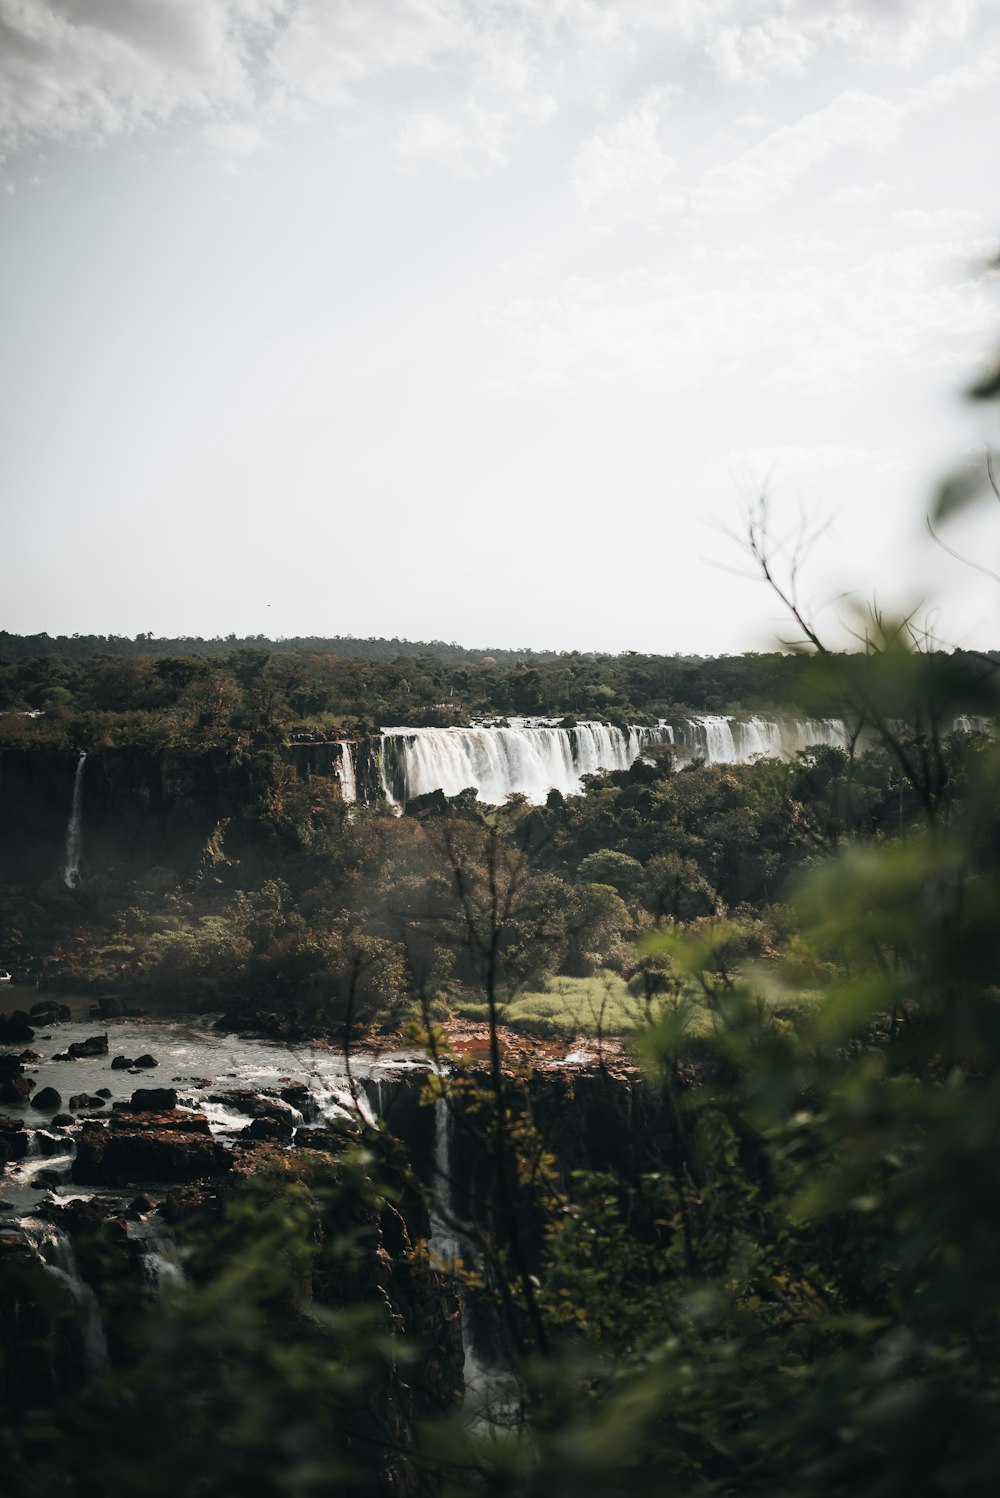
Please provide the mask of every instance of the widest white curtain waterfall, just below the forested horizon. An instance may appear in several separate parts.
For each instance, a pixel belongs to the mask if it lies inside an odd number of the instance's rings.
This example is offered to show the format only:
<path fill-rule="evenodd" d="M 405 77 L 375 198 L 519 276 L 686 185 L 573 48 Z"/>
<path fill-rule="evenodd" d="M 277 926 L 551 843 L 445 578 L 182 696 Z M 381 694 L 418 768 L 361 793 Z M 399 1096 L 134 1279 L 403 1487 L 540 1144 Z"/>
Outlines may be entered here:
<path fill-rule="evenodd" d="M 406 806 L 415 795 L 443 791 L 458 795 L 473 786 L 488 806 L 512 792 L 542 804 L 549 791 L 579 795 L 582 776 L 627 770 L 651 745 L 675 743 L 708 764 L 741 764 L 756 755 L 790 759 L 810 745 L 847 743 L 837 718 L 734 718 L 701 713 L 623 733 L 609 724 L 584 722 L 558 728 L 537 721 L 506 727 L 386 728 L 380 773 L 385 798 Z"/>

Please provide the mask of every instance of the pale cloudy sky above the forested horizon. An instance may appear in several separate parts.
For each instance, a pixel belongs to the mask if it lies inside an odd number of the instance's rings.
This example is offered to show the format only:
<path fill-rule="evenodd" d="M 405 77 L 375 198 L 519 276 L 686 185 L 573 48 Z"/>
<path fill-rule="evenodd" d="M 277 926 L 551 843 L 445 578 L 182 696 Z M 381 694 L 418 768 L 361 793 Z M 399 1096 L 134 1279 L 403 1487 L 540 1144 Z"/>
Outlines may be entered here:
<path fill-rule="evenodd" d="M 0 0 L 0 628 L 769 649 L 766 494 L 1000 647 L 999 139 L 1000 0 Z"/>

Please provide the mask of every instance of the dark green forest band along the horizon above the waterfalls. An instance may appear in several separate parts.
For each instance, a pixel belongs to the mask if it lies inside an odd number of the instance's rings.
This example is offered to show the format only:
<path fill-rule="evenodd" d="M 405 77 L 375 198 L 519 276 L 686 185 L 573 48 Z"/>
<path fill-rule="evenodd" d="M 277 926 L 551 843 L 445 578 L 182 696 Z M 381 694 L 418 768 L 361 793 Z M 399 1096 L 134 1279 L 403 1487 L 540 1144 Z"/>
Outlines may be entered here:
<path fill-rule="evenodd" d="M 48 637 L 43 637 L 48 640 Z M 88 637 L 90 641 L 100 637 Z M 111 637 L 115 641 L 115 637 Z M 238 748 L 293 734 L 358 737 L 385 725 L 436 727 L 481 718 L 590 718 L 624 727 L 695 713 L 846 716 L 847 695 L 888 710 L 906 673 L 864 655 L 832 658 L 831 670 L 799 653 L 741 656 L 597 656 L 563 653 L 509 659 L 406 641 L 347 641 L 400 650 L 346 655 L 296 649 L 296 641 L 210 641 L 222 653 L 139 637 L 121 650 L 24 653 L 36 637 L 0 637 L 0 745 L 99 749 L 138 746 Z M 48 641 L 60 644 L 58 640 Z M 177 646 L 177 652 L 171 647 Z M 454 649 L 455 658 L 440 652 Z M 407 653 L 409 652 L 409 653 Z M 945 712 L 991 713 L 1000 655 L 922 658 L 948 679 Z M 870 676 L 858 686 L 853 677 Z M 903 682 L 903 692 L 900 685 Z"/>

